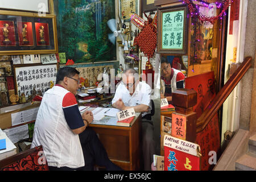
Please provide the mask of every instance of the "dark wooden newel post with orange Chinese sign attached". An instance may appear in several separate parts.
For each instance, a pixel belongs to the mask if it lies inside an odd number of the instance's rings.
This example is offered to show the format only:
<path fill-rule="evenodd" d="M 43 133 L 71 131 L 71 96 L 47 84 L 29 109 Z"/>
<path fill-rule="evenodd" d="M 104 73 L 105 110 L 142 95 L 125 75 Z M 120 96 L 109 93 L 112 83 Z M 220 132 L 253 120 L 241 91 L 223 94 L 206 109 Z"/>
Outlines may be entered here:
<path fill-rule="evenodd" d="M 172 93 L 172 105 L 175 113 L 172 113 L 172 136 L 196 142 L 196 113 L 193 106 L 197 102 L 195 90 L 177 89 Z"/>

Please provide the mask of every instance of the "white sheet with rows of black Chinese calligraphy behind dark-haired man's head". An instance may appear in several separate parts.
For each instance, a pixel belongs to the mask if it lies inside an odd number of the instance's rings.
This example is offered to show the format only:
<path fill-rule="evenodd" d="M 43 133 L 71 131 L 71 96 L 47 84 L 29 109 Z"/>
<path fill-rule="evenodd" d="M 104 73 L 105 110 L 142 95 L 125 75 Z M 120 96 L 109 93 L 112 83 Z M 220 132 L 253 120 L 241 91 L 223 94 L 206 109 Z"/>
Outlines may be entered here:
<path fill-rule="evenodd" d="M 31 67 L 15 67 L 14 77 L 16 92 L 25 97 L 43 94 L 50 88 L 51 81 L 55 84 L 57 75 L 57 64 L 33 65 Z"/>

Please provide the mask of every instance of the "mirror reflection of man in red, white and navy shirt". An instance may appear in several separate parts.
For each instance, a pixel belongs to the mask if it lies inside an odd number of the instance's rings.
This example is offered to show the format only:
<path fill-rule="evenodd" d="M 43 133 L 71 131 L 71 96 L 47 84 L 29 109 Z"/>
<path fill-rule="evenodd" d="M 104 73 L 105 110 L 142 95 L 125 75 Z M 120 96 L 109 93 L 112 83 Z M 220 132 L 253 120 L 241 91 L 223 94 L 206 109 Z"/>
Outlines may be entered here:
<path fill-rule="evenodd" d="M 161 94 L 161 98 L 167 98 L 167 101 L 171 104 L 172 92 L 176 89 L 184 88 L 184 78 L 182 72 L 177 69 L 171 68 L 171 64 L 166 57 L 161 58 L 161 79 L 164 82 L 164 94 Z"/>

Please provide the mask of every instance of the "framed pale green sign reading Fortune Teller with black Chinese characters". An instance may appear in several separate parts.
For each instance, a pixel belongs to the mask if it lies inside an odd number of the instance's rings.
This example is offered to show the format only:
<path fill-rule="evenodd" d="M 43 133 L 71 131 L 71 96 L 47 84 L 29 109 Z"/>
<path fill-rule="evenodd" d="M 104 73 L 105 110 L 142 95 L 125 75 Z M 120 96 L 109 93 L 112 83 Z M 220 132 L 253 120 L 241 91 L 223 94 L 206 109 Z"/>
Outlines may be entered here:
<path fill-rule="evenodd" d="M 158 53 L 187 53 L 187 6 L 158 10 Z"/>

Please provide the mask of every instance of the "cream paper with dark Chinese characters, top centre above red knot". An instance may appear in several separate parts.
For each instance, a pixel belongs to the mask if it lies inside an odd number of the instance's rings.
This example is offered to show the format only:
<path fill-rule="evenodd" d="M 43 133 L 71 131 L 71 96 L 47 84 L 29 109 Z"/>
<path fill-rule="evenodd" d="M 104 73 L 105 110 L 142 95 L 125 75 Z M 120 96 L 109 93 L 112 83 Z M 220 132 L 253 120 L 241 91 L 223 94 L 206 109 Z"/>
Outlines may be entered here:
<path fill-rule="evenodd" d="M 119 0 L 120 18 L 127 22 L 132 14 L 138 14 L 138 0 Z"/>

